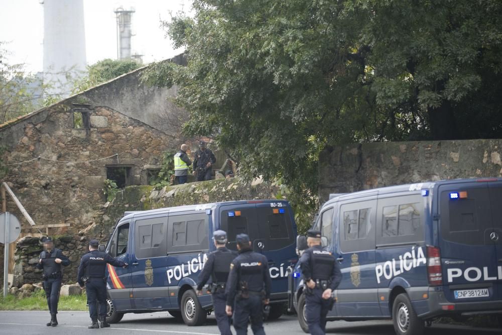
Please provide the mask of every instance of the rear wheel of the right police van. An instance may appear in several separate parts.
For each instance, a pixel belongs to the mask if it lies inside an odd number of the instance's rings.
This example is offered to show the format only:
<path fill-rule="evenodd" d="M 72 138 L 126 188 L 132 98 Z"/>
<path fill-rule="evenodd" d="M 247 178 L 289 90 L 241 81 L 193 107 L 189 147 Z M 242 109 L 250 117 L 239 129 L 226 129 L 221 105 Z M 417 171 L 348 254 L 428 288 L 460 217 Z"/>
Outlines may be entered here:
<path fill-rule="evenodd" d="M 417 316 L 410 298 L 405 293 L 399 294 L 392 305 L 394 330 L 398 335 L 421 335 L 424 333 L 424 321 Z"/>

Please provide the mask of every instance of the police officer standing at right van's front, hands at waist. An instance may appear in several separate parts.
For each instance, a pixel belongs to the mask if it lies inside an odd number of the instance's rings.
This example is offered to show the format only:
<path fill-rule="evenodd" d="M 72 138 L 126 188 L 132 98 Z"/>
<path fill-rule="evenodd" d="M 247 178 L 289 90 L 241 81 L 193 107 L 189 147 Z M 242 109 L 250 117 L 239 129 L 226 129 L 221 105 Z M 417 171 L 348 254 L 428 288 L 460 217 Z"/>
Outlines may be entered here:
<path fill-rule="evenodd" d="M 300 258 L 300 269 L 305 288 L 305 308 L 307 324 L 311 334 L 326 332 L 326 315 L 333 308 L 331 296 L 342 279 L 340 266 L 330 251 L 321 246 L 321 232 L 309 230 L 307 233 L 309 249 Z"/>

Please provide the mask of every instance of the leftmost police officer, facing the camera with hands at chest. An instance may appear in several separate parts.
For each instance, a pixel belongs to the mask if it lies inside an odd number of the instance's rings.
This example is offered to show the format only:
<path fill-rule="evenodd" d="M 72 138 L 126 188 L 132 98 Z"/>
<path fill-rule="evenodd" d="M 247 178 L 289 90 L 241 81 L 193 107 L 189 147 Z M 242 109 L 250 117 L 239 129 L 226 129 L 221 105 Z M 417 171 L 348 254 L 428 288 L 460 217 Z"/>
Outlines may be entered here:
<path fill-rule="evenodd" d="M 44 251 L 40 254 L 40 259 L 37 268 L 44 270 L 42 278 L 44 279 L 44 291 L 47 297 L 47 305 L 49 313 L 51 313 L 51 321 L 47 322 L 48 326 L 57 326 L 58 319 L 58 301 L 59 290 L 61 288 L 61 278 L 63 277 L 63 266 L 70 265 L 70 260 L 63 255 L 63 252 L 54 248 L 54 243 L 50 237 L 42 240 L 44 243 Z"/>

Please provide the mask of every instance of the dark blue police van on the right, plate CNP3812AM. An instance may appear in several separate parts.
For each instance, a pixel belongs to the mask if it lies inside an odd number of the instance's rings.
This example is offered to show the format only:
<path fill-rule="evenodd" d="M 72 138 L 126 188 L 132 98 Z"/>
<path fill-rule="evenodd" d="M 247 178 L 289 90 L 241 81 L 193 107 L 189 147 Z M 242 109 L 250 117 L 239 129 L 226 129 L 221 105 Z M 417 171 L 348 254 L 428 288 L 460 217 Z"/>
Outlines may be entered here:
<path fill-rule="evenodd" d="M 502 178 L 331 195 L 313 228 L 342 271 L 328 320 L 392 318 L 397 334 L 421 334 L 443 316 L 502 318 Z M 298 266 L 289 280 L 308 331 Z"/>

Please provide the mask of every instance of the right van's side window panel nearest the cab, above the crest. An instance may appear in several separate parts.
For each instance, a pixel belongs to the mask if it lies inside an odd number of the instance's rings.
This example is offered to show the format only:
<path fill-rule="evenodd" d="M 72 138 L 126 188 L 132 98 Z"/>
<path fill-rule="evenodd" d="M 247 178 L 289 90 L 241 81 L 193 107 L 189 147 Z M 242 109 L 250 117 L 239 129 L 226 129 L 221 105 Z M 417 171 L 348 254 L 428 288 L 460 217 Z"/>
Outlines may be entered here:
<path fill-rule="evenodd" d="M 340 206 L 339 218 L 342 252 L 375 248 L 376 200 L 344 203 Z"/>

